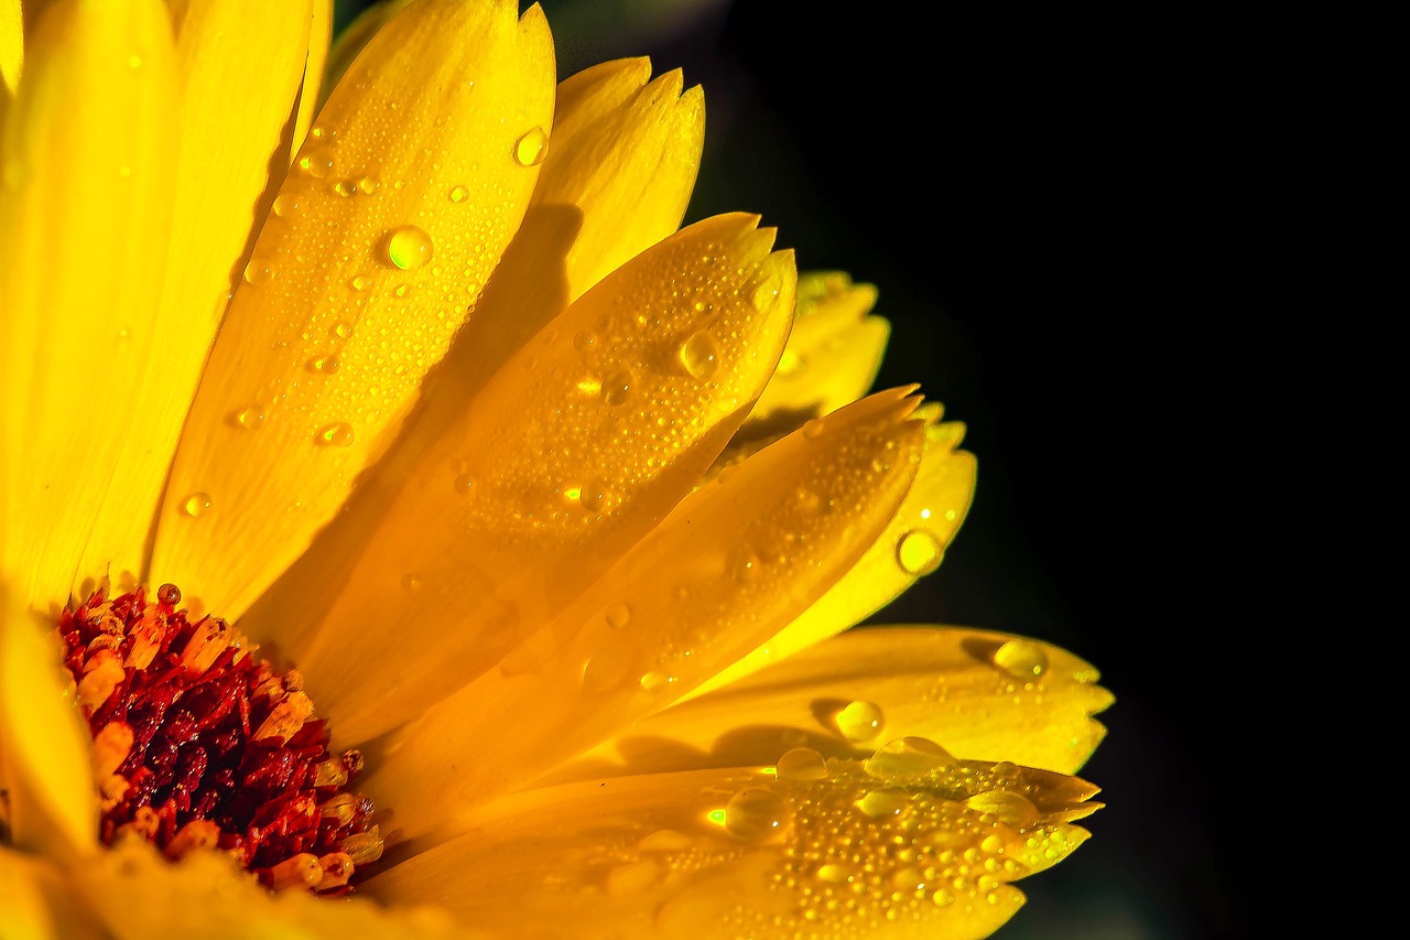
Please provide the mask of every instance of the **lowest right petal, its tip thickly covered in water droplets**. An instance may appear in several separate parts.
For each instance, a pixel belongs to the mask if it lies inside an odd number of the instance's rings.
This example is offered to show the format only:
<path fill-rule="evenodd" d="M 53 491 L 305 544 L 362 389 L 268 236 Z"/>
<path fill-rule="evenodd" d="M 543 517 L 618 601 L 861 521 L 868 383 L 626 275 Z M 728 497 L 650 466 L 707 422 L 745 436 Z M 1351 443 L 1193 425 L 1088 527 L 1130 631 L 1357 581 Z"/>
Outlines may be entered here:
<path fill-rule="evenodd" d="M 919 740 L 869 761 L 794 751 L 505 797 L 368 891 L 519 937 L 980 937 L 1022 903 L 1010 882 L 1083 841 L 1094 793 Z"/>

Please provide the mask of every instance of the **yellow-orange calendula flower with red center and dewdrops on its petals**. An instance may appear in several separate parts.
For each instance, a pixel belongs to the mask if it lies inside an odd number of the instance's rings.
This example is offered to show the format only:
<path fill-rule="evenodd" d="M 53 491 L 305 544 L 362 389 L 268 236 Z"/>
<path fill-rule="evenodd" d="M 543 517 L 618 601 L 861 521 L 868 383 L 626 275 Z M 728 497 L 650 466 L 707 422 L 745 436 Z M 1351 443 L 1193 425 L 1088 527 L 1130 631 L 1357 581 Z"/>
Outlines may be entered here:
<path fill-rule="evenodd" d="M 843 634 L 974 483 L 874 292 L 677 231 L 678 73 L 327 13 L 0 0 L 0 934 L 1003 924 L 1110 696 Z"/>

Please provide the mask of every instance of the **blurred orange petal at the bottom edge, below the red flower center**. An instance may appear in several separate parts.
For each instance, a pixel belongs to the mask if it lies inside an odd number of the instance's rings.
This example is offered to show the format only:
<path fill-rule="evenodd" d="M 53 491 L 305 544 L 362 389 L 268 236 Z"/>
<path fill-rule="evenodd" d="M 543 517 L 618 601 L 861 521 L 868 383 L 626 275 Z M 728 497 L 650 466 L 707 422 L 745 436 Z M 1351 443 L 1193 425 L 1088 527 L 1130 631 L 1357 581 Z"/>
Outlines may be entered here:
<path fill-rule="evenodd" d="M 384 908 L 358 898 L 330 902 L 302 891 L 272 893 L 220 852 L 196 851 L 172 865 L 142 840 L 100 852 L 73 874 L 73 882 L 118 940 L 467 936 L 431 908 Z"/>

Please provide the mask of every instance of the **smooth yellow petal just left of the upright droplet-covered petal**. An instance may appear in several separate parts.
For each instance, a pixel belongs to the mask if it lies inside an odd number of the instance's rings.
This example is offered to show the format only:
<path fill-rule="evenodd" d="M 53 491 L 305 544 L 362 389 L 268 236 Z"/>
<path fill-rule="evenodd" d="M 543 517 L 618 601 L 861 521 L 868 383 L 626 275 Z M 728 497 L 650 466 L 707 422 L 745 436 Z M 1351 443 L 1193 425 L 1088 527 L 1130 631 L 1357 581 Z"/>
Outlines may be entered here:
<path fill-rule="evenodd" d="M 302 3 L 192 3 L 178 24 L 180 140 L 172 253 L 158 306 L 154 368 L 134 408 L 82 580 L 142 570 L 152 514 L 210 343 L 240 277 L 238 258 L 281 145 L 307 55 Z M 238 88 L 240 95 L 230 89 Z"/>

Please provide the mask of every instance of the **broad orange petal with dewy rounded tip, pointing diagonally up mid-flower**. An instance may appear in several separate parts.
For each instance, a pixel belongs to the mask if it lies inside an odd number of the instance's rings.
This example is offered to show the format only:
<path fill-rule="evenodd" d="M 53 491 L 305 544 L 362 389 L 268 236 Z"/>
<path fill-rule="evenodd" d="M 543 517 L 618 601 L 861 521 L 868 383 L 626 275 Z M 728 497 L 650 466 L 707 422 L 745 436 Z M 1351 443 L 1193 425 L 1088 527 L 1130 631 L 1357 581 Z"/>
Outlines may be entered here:
<path fill-rule="evenodd" d="M 689 491 L 792 313 L 756 224 L 694 224 L 580 298 L 427 453 L 327 620 L 279 632 L 348 742 L 494 666 Z"/>

